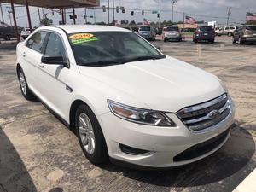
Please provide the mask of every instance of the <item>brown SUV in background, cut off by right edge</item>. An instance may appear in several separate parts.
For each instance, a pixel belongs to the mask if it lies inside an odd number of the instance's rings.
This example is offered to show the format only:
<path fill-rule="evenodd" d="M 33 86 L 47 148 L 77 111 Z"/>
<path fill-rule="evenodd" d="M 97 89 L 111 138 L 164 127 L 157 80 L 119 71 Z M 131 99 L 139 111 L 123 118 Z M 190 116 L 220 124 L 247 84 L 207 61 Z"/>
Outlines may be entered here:
<path fill-rule="evenodd" d="M 241 26 L 236 30 L 233 37 L 233 44 L 237 41 L 239 44 L 256 42 L 256 25 Z"/>

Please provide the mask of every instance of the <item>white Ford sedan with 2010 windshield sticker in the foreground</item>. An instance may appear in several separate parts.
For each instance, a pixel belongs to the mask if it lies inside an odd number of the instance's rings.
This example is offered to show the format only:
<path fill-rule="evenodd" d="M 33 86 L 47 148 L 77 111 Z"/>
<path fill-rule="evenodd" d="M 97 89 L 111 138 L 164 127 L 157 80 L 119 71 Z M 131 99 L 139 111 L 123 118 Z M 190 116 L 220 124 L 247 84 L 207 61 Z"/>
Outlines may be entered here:
<path fill-rule="evenodd" d="M 216 152 L 235 109 L 216 76 L 113 26 L 44 26 L 17 45 L 26 99 L 37 96 L 95 165 L 166 168 Z"/>

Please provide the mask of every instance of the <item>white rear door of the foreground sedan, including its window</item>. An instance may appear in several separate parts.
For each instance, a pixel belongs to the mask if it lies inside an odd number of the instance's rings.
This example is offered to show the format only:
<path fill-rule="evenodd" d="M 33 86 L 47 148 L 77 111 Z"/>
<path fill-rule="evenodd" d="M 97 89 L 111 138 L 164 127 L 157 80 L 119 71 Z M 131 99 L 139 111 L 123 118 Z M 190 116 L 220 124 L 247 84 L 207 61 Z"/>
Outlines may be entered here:
<path fill-rule="evenodd" d="M 48 32 L 39 31 L 32 35 L 21 51 L 21 66 L 26 75 L 29 87 L 38 95 L 40 90 L 38 81 L 38 67 L 41 63 L 42 51 Z"/>

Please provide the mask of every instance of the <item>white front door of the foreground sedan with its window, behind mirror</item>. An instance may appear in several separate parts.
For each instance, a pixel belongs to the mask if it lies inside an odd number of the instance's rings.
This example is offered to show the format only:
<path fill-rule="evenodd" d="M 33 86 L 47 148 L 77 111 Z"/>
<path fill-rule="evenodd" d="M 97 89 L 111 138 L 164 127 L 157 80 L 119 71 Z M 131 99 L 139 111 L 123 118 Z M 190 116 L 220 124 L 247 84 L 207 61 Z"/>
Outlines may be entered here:
<path fill-rule="evenodd" d="M 45 45 L 44 55 L 62 56 L 68 62 L 67 51 L 61 35 L 57 32 L 50 32 Z M 49 108 L 65 118 L 65 108 L 71 99 L 72 89 L 65 83 L 69 67 L 55 64 L 40 64 L 38 78 L 41 86 L 42 100 Z"/>

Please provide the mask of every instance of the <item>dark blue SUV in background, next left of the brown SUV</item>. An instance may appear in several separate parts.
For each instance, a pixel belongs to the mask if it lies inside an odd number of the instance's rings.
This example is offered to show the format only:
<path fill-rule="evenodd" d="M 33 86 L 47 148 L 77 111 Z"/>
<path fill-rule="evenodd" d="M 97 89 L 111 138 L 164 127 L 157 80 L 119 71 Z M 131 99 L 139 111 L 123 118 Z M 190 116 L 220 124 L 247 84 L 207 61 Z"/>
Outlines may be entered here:
<path fill-rule="evenodd" d="M 198 26 L 193 36 L 193 41 L 198 43 L 199 41 L 208 41 L 214 43 L 215 32 L 212 26 Z"/>

